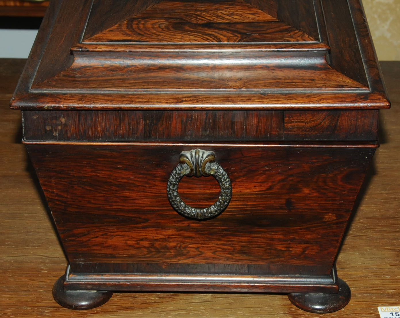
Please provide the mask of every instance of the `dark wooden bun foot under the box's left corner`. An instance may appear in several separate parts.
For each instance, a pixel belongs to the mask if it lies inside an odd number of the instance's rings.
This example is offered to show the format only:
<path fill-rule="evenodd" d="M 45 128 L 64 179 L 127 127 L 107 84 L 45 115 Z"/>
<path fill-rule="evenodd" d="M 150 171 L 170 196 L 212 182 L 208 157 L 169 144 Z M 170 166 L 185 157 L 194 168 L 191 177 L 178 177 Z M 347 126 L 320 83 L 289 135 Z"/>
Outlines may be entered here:
<path fill-rule="evenodd" d="M 106 303 L 112 292 L 93 290 L 64 290 L 64 275 L 58 278 L 53 286 L 53 298 L 68 309 L 91 309 Z"/>

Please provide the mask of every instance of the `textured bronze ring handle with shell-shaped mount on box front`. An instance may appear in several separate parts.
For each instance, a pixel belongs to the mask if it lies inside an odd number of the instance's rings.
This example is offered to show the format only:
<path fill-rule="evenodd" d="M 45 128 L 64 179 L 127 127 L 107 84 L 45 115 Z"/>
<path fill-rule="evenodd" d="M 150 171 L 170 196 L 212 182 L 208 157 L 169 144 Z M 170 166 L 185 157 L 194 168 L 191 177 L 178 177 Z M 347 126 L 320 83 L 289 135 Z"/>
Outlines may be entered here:
<path fill-rule="evenodd" d="M 194 219 L 206 219 L 217 216 L 226 209 L 232 197 L 232 183 L 225 170 L 215 162 L 215 153 L 201 149 L 182 151 L 180 164 L 172 170 L 167 182 L 167 196 L 176 212 Z M 220 185 L 218 200 L 208 208 L 192 208 L 182 201 L 178 194 L 178 184 L 183 176 L 213 176 Z"/>

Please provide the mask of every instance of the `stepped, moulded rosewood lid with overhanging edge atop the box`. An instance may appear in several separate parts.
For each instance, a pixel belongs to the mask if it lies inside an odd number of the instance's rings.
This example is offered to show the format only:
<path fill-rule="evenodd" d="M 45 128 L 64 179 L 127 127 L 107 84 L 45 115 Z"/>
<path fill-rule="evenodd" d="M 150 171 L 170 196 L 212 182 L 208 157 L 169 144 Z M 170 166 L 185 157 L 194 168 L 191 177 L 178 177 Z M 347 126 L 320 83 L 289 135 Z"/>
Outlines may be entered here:
<path fill-rule="evenodd" d="M 18 109 L 390 106 L 359 0 L 53 0 Z"/>

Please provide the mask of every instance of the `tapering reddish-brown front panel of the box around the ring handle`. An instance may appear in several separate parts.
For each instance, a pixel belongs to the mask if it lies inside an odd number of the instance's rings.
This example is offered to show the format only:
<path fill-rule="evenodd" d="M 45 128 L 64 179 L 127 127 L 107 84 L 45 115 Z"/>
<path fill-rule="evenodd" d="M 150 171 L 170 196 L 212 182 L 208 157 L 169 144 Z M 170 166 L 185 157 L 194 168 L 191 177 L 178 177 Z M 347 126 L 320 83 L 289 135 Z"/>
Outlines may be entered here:
<path fill-rule="evenodd" d="M 217 218 L 198 222 L 177 214 L 166 198 L 168 175 L 188 146 L 27 146 L 72 263 L 294 265 L 280 274 L 314 264 L 313 274 L 321 275 L 331 270 L 374 153 L 213 147 L 232 181 L 232 200 Z M 181 191 L 201 202 L 208 192 L 201 186 Z"/>

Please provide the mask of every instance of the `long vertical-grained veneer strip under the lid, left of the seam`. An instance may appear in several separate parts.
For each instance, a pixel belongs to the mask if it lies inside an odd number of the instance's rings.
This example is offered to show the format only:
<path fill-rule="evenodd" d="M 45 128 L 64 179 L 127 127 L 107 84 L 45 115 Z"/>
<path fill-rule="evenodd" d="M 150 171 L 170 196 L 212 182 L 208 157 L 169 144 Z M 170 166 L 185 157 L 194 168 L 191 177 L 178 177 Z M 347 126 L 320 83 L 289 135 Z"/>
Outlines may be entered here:
<path fill-rule="evenodd" d="M 24 111 L 26 140 L 280 140 L 279 111 Z"/>

